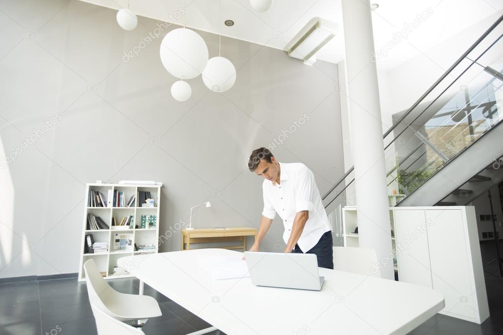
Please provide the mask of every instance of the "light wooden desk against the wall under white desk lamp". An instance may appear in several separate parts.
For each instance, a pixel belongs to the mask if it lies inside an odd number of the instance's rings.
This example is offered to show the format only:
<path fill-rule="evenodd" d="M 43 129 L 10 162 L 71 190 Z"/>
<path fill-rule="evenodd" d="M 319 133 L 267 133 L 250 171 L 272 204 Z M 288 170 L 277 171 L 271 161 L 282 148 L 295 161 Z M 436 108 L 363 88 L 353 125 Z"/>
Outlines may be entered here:
<path fill-rule="evenodd" d="M 254 236 L 257 239 L 258 230 L 255 228 L 199 228 L 193 230 L 182 230 L 182 250 L 189 250 L 191 243 L 213 243 L 213 242 L 235 242 L 239 241 L 241 246 L 217 247 L 221 249 L 242 249 L 246 251 L 246 236 Z"/>

